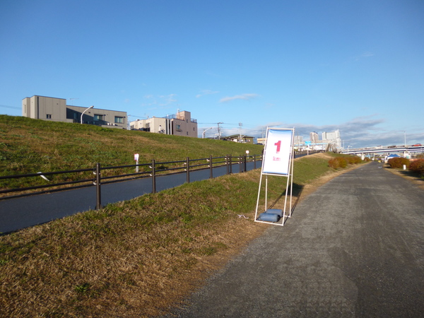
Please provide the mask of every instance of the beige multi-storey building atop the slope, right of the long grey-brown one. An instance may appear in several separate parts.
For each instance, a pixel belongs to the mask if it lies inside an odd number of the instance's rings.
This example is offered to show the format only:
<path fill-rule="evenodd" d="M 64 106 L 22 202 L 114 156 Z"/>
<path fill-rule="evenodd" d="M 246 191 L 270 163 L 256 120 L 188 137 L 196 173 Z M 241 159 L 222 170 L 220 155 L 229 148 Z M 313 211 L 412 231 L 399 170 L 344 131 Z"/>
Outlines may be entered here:
<path fill-rule="evenodd" d="M 185 110 L 167 117 L 138 119 L 131 122 L 130 127 L 159 134 L 197 137 L 197 120 L 192 119 L 192 114 Z"/>

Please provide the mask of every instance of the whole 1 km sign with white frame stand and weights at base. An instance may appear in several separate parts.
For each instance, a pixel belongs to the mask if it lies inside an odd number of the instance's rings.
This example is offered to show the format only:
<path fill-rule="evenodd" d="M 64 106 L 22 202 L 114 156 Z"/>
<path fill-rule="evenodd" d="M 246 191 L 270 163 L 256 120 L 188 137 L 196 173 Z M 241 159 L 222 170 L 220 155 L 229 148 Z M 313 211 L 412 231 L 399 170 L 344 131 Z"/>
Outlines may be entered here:
<path fill-rule="evenodd" d="M 273 225 L 284 225 L 286 218 L 291 217 L 292 197 L 293 197 L 293 159 L 294 159 L 294 136 L 295 129 L 267 128 L 264 158 L 262 158 L 261 179 L 259 179 L 259 189 L 257 206 L 254 215 L 255 222 L 269 223 Z M 258 216 L 259 199 L 261 195 L 262 177 L 265 177 L 265 211 Z M 268 175 L 287 177 L 285 187 L 284 208 L 268 208 Z M 288 193 L 290 191 L 290 200 Z M 285 215 L 286 206 L 289 204 L 288 215 Z"/>

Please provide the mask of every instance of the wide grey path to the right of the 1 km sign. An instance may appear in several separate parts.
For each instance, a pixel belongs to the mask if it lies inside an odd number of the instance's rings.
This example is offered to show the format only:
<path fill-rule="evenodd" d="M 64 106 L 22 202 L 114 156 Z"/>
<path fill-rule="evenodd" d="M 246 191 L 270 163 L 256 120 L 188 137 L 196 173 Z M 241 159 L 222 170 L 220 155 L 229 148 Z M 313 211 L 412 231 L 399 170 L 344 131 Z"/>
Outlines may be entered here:
<path fill-rule="evenodd" d="M 307 196 L 167 317 L 424 317 L 423 251 L 424 191 L 370 163 Z"/>

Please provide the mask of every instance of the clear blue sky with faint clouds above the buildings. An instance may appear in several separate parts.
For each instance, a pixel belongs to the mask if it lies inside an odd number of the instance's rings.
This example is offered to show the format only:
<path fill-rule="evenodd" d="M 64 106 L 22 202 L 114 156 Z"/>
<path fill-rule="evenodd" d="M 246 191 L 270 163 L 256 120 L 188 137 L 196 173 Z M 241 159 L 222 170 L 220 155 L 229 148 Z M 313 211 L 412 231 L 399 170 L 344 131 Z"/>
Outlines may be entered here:
<path fill-rule="evenodd" d="M 424 144 L 424 1 L 1 0 L 0 113 L 33 95 L 187 110 L 199 136 Z"/>

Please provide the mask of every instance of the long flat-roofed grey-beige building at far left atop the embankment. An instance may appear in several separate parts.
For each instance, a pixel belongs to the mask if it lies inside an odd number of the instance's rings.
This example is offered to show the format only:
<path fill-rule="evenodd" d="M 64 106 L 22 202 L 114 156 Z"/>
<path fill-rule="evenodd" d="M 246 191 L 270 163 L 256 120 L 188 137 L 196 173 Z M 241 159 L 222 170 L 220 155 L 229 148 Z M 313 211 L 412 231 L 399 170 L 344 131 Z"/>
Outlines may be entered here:
<path fill-rule="evenodd" d="M 63 98 L 34 95 L 22 100 L 22 116 L 53 122 L 74 122 L 126 129 L 126 112 L 66 105 Z"/>

